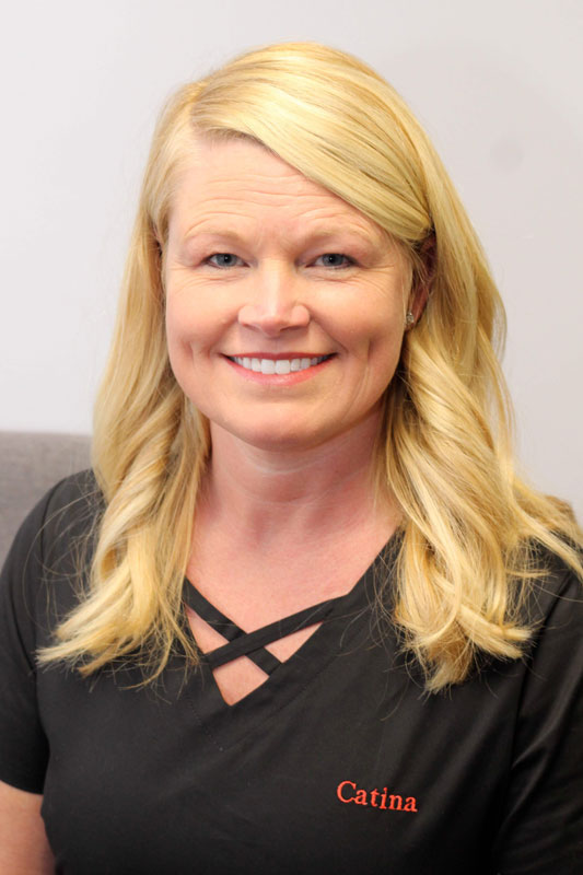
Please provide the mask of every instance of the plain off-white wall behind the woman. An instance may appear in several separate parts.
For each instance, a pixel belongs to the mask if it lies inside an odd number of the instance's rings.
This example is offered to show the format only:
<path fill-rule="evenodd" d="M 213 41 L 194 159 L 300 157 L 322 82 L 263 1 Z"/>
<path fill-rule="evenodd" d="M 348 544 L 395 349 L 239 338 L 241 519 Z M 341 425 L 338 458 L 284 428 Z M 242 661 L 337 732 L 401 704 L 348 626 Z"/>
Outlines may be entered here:
<path fill-rule="evenodd" d="M 405 96 L 506 303 L 529 478 L 583 516 L 582 0 L 53 0 L 0 35 L 0 428 L 91 430 L 155 118 L 234 54 L 314 39 Z"/>

